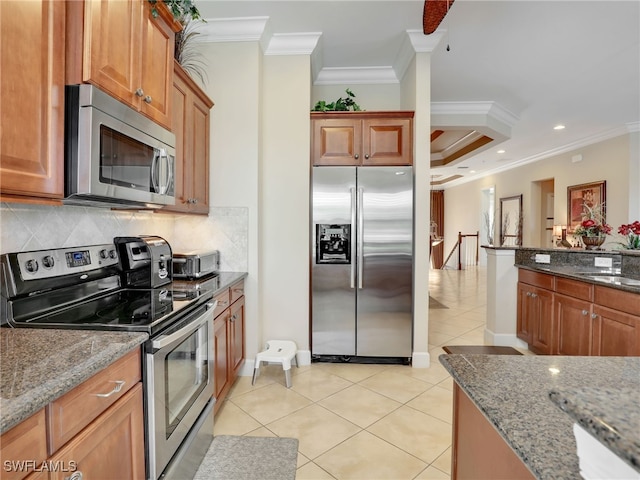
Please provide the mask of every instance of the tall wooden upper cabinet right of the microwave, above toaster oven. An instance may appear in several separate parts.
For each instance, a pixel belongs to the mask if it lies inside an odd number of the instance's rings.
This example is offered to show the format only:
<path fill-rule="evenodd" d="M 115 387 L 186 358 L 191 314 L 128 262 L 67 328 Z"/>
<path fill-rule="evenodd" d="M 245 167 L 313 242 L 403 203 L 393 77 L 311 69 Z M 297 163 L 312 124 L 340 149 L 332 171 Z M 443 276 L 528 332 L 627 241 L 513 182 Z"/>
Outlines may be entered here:
<path fill-rule="evenodd" d="M 211 99 L 176 62 L 173 131 L 176 134 L 176 204 L 163 210 L 209 213 L 209 111 Z"/>

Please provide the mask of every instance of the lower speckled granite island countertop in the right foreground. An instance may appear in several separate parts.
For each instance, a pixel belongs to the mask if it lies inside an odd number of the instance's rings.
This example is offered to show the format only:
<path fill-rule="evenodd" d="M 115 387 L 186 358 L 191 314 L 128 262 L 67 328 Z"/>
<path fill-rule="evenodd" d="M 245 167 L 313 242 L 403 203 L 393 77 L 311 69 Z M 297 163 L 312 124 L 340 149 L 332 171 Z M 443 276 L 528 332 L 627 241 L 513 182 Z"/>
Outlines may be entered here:
<path fill-rule="evenodd" d="M 574 419 L 551 401 L 552 391 L 608 391 L 627 406 L 620 412 L 625 421 L 637 425 L 640 418 L 639 357 L 459 354 L 439 360 L 539 480 L 582 480 Z M 600 398 L 581 398 L 597 411 Z M 637 432 L 627 437 L 622 430 L 623 439 L 610 441 L 637 459 Z"/>

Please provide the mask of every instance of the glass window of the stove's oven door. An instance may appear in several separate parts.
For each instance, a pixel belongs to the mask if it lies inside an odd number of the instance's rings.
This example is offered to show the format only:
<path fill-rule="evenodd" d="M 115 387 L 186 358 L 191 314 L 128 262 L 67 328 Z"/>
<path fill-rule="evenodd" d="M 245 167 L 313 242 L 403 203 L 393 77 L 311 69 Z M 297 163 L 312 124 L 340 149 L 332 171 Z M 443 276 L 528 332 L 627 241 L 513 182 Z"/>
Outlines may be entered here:
<path fill-rule="evenodd" d="M 203 325 L 164 357 L 167 438 L 207 385 L 207 328 Z"/>

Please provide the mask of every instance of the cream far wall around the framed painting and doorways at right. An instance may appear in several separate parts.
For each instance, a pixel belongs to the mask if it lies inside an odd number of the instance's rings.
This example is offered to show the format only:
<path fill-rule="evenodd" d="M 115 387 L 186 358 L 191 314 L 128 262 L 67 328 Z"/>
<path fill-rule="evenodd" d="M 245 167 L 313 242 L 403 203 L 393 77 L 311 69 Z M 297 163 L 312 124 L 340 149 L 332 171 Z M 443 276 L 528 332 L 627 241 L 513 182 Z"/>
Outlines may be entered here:
<path fill-rule="evenodd" d="M 566 224 L 568 186 L 601 180 L 607 182 L 607 223 L 617 230 L 620 224 L 634 220 L 629 208 L 629 176 L 637 160 L 630 157 L 630 139 L 630 135 L 622 135 L 448 188 L 445 191 L 445 252 L 448 253 L 455 244 L 458 231 L 482 231 L 478 222 L 481 217 L 481 190 L 492 185 L 496 187 L 498 209 L 501 197 L 523 194 L 524 246 L 540 246 L 540 229 L 544 228 L 539 215 L 540 200 L 535 198 L 540 188 L 533 182 L 554 179 L 556 224 Z M 582 161 L 573 163 L 571 158 L 578 154 L 582 156 Z M 615 238 L 609 237 L 605 247 L 615 241 Z"/>

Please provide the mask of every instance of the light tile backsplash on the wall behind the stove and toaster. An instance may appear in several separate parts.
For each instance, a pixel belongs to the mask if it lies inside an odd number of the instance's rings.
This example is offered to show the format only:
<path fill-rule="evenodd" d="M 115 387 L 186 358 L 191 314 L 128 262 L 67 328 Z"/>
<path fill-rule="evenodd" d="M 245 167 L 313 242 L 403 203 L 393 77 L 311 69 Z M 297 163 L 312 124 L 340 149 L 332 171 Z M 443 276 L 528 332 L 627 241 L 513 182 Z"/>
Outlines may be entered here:
<path fill-rule="evenodd" d="M 220 268 L 247 271 L 248 209 L 211 208 L 208 217 L 137 210 L 0 203 L 0 253 L 109 243 L 158 235 L 176 252 L 220 250 Z"/>

